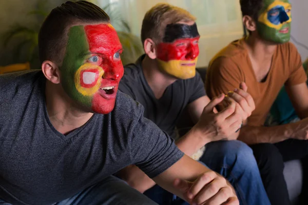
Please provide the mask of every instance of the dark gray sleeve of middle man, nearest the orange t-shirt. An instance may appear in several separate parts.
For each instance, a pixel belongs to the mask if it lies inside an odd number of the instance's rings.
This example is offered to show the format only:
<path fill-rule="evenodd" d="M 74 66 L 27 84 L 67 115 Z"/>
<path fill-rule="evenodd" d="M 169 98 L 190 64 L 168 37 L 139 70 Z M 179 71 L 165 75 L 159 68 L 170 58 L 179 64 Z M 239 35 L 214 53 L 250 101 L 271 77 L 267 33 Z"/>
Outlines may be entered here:
<path fill-rule="evenodd" d="M 192 78 L 190 86 L 188 86 L 188 91 L 186 93 L 191 93 L 191 95 L 189 96 L 188 104 L 206 95 L 204 83 L 199 72 L 196 71 L 196 76 Z"/>

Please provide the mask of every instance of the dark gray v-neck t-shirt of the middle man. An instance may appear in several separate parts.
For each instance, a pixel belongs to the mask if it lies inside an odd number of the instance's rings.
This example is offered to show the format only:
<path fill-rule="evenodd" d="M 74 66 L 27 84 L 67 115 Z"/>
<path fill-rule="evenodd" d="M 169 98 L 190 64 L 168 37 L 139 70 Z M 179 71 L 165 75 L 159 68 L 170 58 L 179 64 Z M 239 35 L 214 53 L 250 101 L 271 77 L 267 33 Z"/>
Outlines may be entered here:
<path fill-rule="evenodd" d="M 175 127 L 184 108 L 206 95 L 203 81 L 198 72 L 195 77 L 178 79 L 157 99 L 143 74 L 141 62 L 144 57 L 145 55 L 142 55 L 136 64 L 124 67 L 119 90 L 141 103 L 145 108 L 144 116 L 175 138 Z"/>

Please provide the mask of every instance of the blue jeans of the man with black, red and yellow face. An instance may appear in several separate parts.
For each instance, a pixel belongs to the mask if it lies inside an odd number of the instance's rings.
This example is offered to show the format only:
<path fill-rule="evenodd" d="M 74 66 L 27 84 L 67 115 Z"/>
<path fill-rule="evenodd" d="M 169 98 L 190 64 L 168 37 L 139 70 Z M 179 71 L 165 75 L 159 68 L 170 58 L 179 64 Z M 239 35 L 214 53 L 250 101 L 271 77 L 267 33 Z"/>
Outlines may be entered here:
<path fill-rule="evenodd" d="M 241 205 L 271 204 L 263 187 L 253 151 L 243 142 L 210 142 L 206 145 L 200 161 L 232 184 Z M 161 205 L 188 204 L 157 185 L 144 194 Z"/>

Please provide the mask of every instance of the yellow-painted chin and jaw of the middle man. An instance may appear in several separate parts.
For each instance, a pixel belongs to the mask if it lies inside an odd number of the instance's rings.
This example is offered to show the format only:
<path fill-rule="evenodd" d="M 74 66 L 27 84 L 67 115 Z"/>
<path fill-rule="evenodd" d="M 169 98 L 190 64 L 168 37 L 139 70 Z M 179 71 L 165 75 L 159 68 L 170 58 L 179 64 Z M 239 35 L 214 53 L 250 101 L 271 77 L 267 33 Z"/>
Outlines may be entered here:
<path fill-rule="evenodd" d="M 196 75 L 197 60 L 198 57 L 196 57 L 194 60 L 163 61 L 157 59 L 159 67 L 163 68 L 164 72 L 180 79 L 188 79 Z"/>

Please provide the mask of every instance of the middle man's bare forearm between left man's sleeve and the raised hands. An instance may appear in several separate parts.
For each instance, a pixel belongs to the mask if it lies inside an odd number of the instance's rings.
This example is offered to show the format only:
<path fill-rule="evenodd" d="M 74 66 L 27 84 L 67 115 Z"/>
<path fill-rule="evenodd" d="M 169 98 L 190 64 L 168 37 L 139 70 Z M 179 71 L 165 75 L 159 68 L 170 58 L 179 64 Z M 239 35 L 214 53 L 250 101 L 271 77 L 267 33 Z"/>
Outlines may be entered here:
<path fill-rule="evenodd" d="M 206 145 L 210 140 L 201 133 L 196 126 L 191 128 L 183 137 L 176 141 L 178 148 L 186 155 L 191 156 Z"/>

